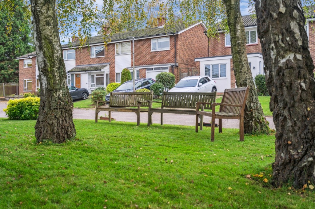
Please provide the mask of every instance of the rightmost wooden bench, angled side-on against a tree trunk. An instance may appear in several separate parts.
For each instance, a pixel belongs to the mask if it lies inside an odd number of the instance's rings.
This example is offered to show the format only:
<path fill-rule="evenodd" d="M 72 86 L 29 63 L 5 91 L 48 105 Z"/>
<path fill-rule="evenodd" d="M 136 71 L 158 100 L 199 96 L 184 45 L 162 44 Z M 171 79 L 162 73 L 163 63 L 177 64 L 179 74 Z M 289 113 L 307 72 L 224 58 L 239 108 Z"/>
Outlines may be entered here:
<path fill-rule="evenodd" d="M 239 138 L 244 141 L 244 109 L 248 95 L 248 87 L 225 89 L 221 103 L 212 103 L 212 111 L 199 111 L 207 102 L 198 102 L 196 107 L 196 132 L 198 132 L 198 118 L 200 115 L 211 117 L 211 141 L 215 140 L 215 118 L 219 119 L 219 133 L 222 133 L 222 119 L 239 119 Z M 215 106 L 220 105 L 219 112 Z M 202 130 L 202 123 L 200 123 Z"/>

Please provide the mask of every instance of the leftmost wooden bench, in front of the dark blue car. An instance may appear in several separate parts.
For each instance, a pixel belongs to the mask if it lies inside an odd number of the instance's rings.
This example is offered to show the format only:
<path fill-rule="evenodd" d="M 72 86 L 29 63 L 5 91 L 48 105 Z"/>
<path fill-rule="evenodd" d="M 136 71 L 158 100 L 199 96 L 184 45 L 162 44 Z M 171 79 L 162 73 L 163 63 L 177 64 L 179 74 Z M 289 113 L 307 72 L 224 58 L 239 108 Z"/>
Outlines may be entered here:
<path fill-rule="evenodd" d="M 153 91 L 151 92 L 111 92 L 109 102 L 96 101 L 95 106 L 95 123 L 97 123 L 98 113 L 100 111 L 108 111 L 109 122 L 111 122 L 111 112 L 134 112 L 137 115 L 137 126 L 140 125 L 140 112 L 148 112 L 147 100 L 153 99 Z M 99 106 L 99 102 L 108 103 L 108 107 Z M 137 108 L 131 108 L 137 107 Z"/>

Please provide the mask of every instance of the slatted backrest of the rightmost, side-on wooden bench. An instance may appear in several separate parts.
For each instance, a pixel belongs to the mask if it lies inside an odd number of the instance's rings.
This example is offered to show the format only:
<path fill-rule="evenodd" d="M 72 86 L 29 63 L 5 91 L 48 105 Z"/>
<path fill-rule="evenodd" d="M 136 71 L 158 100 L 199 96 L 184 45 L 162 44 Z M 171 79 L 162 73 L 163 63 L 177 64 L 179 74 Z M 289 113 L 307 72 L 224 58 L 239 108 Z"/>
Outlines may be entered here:
<path fill-rule="evenodd" d="M 238 114 L 238 115 L 241 113 L 241 111 L 244 112 L 248 90 L 249 90 L 248 87 L 225 89 L 223 97 L 222 97 L 222 103 L 232 104 L 232 105 L 243 105 L 243 106 L 232 107 L 232 106 L 221 105 L 219 111 L 225 112 L 225 113 Z"/>

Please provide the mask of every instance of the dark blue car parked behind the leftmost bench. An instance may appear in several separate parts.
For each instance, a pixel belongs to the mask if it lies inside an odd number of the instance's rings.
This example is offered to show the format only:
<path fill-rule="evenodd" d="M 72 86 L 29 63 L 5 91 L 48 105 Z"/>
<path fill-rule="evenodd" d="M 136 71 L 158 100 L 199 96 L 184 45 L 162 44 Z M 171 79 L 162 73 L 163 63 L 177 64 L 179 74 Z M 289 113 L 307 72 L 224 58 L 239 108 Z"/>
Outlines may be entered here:
<path fill-rule="evenodd" d="M 150 90 L 150 87 L 153 83 L 155 83 L 155 80 L 153 80 L 152 78 L 135 79 L 135 90 L 141 89 L 141 88 L 147 88 Z M 133 92 L 133 90 L 134 90 L 134 81 L 129 80 L 121 84 L 113 92 Z M 109 96 L 110 94 L 106 95 L 105 101 L 109 101 Z"/>

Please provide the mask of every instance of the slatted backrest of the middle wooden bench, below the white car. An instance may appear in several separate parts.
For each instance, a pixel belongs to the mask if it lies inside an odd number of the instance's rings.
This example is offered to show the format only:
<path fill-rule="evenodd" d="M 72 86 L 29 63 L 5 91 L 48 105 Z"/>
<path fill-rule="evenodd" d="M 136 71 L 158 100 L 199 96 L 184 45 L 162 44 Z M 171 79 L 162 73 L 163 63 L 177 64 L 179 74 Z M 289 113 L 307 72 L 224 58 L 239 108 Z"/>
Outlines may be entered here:
<path fill-rule="evenodd" d="M 214 93 L 183 93 L 183 92 L 163 92 L 162 105 L 170 108 L 196 109 L 197 102 L 215 102 Z M 204 109 L 211 110 L 211 105 L 205 105 Z"/>

